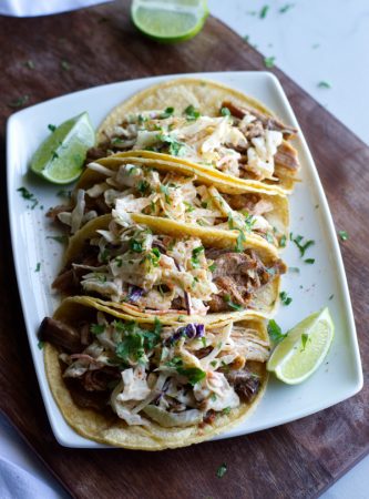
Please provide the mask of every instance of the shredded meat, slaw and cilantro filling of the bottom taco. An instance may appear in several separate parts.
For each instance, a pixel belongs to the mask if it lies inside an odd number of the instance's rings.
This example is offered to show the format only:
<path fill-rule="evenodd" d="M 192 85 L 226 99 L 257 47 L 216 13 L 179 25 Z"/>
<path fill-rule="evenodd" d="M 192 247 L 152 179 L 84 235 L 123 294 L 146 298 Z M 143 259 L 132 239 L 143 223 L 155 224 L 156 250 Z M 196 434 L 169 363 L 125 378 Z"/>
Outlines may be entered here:
<path fill-rule="evenodd" d="M 269 344 L 255 324 L 178 327 L 94 312 L 73 320 L 45 317 L 39 337 L 59 352 L 78 407 L 114 414 L 129 426 L 201 428 L 260 390 Z"/>

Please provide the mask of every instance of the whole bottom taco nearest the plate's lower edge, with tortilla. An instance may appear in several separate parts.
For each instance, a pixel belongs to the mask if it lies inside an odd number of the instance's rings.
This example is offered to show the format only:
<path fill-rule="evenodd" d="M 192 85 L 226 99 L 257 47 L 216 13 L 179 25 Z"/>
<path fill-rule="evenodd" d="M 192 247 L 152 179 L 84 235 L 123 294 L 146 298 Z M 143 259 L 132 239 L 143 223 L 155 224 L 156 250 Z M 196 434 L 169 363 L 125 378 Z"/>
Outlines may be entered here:
<path fill-rule="evenodd" d="M 185 447 L 239 424 L 264 394 L 260 320 L 167 324 L 66 298 L 39 332 L 52 395 L 66 422 L 98 442 Z"/>

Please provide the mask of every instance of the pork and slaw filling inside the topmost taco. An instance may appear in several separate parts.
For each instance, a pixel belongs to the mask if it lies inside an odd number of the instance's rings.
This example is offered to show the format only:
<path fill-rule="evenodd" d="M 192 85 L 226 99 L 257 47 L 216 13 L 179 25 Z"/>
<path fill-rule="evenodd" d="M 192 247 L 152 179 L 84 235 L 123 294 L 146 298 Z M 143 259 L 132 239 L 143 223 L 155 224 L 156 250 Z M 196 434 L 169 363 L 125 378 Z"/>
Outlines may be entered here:
<path fill-rule="evenodd" d="M 216 116 L 202 115 L 193 105 L 150 110 L 124 116 L 99 147 L 90 150 L 88 161 L 146 150 L 240 179 L 278 182 L 299 169 L 297 152 L 287 142 L 295 134 L 295 129 L 279 120 L 228 101 Z"/>

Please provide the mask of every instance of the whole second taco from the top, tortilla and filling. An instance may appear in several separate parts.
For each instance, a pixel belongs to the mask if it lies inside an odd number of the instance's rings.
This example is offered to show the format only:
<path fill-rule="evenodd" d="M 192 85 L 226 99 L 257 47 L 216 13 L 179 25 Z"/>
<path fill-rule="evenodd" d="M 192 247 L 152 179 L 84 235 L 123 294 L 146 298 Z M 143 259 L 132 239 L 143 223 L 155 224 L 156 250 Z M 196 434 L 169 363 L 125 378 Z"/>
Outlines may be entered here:
<path fill-rule="evenodd" d="M 50 212 L 75 233 L 89 220 L 114 211 L 142 213 L 186 224 L 243 231 L 284 247 L 288 200 L 233 185 L 188 165 L 147 157 L 110 156 L 88 165 L 69 206 Z"/>

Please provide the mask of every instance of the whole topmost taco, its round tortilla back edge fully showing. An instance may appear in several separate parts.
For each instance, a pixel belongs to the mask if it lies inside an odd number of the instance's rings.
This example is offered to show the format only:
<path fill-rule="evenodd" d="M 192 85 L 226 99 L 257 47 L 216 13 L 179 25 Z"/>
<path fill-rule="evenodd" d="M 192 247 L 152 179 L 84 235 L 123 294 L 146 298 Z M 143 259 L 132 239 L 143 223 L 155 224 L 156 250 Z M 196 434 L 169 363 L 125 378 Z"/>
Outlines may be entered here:
<path fill-rule="evenodd" d="M 89 160 L 135 150 L 184 162 L 233 183 L 289 193 L 299 161 L 285 125 L 262 103 L 219 83 L 171 80 L 115 108 L 98 132 Z"/>

